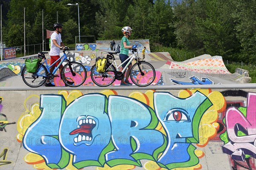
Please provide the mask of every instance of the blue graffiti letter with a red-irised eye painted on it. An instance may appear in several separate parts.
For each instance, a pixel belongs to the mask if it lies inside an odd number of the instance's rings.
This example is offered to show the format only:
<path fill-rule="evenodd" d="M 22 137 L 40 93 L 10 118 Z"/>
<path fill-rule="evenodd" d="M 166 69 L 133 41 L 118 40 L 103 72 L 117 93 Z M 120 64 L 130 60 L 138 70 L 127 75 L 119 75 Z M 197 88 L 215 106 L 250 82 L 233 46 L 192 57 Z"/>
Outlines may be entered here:
<path fill-rule="evenodd" d="M 200 92 L 186 99 L 179 99 L 169 93 L 154 93 L 154 105 L 159 120 L 165 126 L 168 144 L 157 161 L 169 169 L 198 164 L 195 147 L 189 143 L 199 143 L 201 113 L 207 111 L 212 103 Z M 196 121 L 194 116 L 197 117 Z M 180 129 L 184 126 L 188 128 L 181 132 Z"/>

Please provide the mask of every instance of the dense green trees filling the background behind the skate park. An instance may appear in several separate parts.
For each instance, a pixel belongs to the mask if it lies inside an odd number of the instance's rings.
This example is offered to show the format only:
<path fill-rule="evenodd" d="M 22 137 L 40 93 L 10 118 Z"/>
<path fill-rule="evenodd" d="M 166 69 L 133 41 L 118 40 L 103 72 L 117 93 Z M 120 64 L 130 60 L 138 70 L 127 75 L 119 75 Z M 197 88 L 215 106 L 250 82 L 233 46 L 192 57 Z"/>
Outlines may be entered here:
<path fill-rule="evenodd" d="M 169 51 L 177 57 L 176 61 L 194 54 L 210 54 L 222 56 L 224 60 L 256 64 L 256 0 L 0 2 L 3 4 L 3 41 L 7 47 L 24 43 L 25 7 L 26 44 L 41 43 L 46 29 L 52 30 L 58 17 L 58 22 L 64 24 L 62 40 L 66 44 L 75 43 L 78 23 L 81 36 L 94 35 L 96 40 L 120 40 L 122 27 L 131 26 L 130 39 L 149 39 L 152 51 Z M 68 3 L 79 3 L 79 6 L 67 6 Z M 171 50 L 168 47 L 172 47 Z"/>

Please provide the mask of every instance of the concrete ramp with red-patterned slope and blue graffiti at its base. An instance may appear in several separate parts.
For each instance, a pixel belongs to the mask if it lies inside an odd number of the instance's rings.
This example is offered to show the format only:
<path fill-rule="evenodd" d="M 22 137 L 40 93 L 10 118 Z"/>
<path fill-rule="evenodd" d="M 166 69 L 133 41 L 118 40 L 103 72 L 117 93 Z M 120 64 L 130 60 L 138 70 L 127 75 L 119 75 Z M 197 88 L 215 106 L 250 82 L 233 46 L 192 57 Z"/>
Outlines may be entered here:
<path fill-rule="evenodd" d="M 248 83 L 248 71 L 237 69 L 231 74 L 221 56 L 204 54 L 183 62 L 166 61 L 158 70 L 164 73 L 166 84 L 172 85 L 211 85 Z"/>

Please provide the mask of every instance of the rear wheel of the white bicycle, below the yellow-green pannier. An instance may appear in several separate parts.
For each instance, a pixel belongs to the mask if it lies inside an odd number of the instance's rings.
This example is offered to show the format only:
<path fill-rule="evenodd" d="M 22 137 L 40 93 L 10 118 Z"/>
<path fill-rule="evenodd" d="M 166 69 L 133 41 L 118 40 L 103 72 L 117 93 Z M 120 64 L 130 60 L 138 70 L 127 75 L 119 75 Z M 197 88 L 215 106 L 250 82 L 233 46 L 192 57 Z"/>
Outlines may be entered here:
<path fill-rule="evenodd" d="M 106 69 L 104 73 L 97 71 L 96 65 L 93 65 L 91 69 L 91 79 L 93 82 L 100 87 L 107 87 L 115 81 L 116 68 L 111 65 Z"/>

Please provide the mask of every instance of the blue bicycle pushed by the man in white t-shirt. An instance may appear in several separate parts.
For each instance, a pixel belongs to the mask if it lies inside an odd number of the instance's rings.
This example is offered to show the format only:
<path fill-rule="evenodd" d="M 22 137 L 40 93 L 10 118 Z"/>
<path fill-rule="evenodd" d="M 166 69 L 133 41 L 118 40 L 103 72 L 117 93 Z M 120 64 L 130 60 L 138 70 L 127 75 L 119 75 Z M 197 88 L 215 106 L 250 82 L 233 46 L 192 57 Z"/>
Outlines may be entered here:
<path fill-rule="evenodd" d="M 69 48 L 65 47 L 65 49 L 63 50 L 63 55 L 52 64 L 54 65 L 56 62 L 61 60 L 61 62 L 58 64 L 57 67 L 55 67 L 52 73 L 50 73 L 49 71 L 49 68 L 51 68 L 52 65 L 48 65 L 45 58 L 45 54 L 47 54 L 48 52 L 39 52 L 38 57 L 43 59 L 44 62 L 39 63 L 38 69 L 35 73 L 28 73 L 26 71 L 26 66 L 24 66 L 23 70 L 21 71 L 23 82 L 25 82 L 26 85 L 32 88 L 40 87 L 41 85 L 44 85 L 47 79 L 51 80 L 54 79 L 54 77 L 59 77 L 58 74 L 55 75 L 55 73 L 57 72 L 59 66 L 64 61 L 66 61 L 67 64 L 64 65 L 60 73 L 62 81 L 65 83 L 66 86 L 70 87 L 78 87 L 82 85 L 87 77 L 87 71 L 84 68 L 84 65 L 82 65 L 81 63 L 71 62 L 70 59 L 67 58 L 67 54 L 65 53 L 67 49 L 69 50 Z M 70 82 L 74 83 L 70 84 Z"/>

